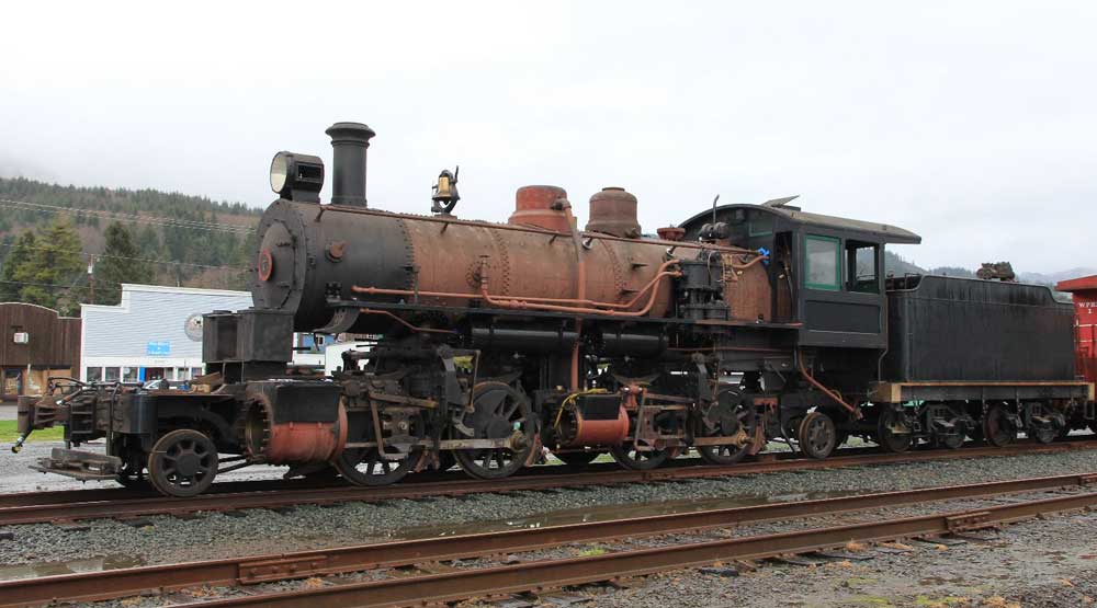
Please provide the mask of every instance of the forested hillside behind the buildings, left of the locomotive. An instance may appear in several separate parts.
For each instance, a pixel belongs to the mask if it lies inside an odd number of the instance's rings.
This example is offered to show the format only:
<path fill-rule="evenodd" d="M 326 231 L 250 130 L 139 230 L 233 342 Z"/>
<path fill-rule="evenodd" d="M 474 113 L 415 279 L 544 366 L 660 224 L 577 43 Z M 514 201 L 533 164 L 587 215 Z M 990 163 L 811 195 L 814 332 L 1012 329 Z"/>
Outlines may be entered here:
<path fill-rule="evenodd" d="M 90 259 L 97 268 L 100 264 L 124 266 L 114 269 L 121 272 L 122 279 L 132 282 L 241 289 L 247 285 L 244 269 L 252 263 L 255 227 L 261 214 L 261 208 L 242 203 L 179 193 L 60 186 L 0 177 L 0 299 L 35 301 L 73 312 L 79 309 L 78 300 L 89 301 L 90 292 L 84 291 L 90 291 Z M 75 231 L 76 240 L 67 232 L 56 232 L 66 225 Z M 106 231 L 112 225 L 118 226 L 115 237 L 122 240 L 116 239 L 115 246 L 124 248 L 125 255 L 108 251 Z M 45 268 L 31 267 L 16 273 L 11 257 L 18 240 L 24 237 L 23 257 L 36 253 L 49 263 L 50 256 L 66 253 L 67 264 L 59 265 L 69 271 L 63 268 L 50 275 Z M 58 239 L 66 240 L 65 251 L 47 251 L 58 248 L 57 242 L 50 242 Z M 32 245 L 32 240 L 36 244 Z M 125 249 L 131 245 L 133 249 Z M 70 272 L 78 265 L 79 272 Z M 97 271 L 97 279 L 98 275 Z M 37 301 L 35 289 L 48 290 L 53 296 Z"/>

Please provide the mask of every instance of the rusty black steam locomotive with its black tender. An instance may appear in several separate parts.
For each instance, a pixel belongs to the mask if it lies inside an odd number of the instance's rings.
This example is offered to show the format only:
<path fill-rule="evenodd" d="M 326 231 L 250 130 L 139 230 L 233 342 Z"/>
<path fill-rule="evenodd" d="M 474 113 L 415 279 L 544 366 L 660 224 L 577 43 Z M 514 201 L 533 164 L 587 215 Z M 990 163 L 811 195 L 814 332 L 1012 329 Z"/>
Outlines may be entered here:
<path fill-rule="evenodd" d="M 1045 287 L 889 277 L 909 231 L 793 198 L 704 209 L 647 236 L 609 187 L 579 230 L 564 190 L 525 186 L 507 223 L 366 204 L 374 131 L 337 123 L 324 162 L 280 152 L 258 228 L 253 308 L 205 316 L 189 390 L 61 387 L 20 404 L 22 437 L 65 425 L 36 464 L 190 496 L 255 463 L 360 485 L 454 463 L 499 479 L 551 451 L 651 469 L 730 464 L 783 439 L 826 458 L 851 435 L 903 451 L 1051 441 L 1093 424 L 1073 313 Z M 335 374 L 290 374 L 294 332 L 367 337 Z M 64 389 L 64 390 L 63 390 Z M 105 455 L 72 449 L 105 439 Z M 18 447 L 18 446 L 16 446 Z"/>

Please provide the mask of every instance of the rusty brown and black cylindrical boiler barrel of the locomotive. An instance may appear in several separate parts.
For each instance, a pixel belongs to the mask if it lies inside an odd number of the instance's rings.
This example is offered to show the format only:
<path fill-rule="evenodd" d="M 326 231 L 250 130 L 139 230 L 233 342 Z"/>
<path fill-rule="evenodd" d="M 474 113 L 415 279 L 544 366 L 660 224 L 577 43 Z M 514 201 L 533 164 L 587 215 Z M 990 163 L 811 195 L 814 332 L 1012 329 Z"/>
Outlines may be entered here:
<path fill-rule="evenodd" d="M 323 328 L 331 318 L 329 291 L 341 299 L 353 286 L 414 290 L 422 305 L 465 307 L 479 294 L 488 268 L 490 296 L 570 299 L 578 265 L 572 236 L 538 228 L 437 220 L 363 208 L 278 200 L 259 226 L 259 261 L 252 296 L 257 307 L 291 310 L 296 331 Z M 584 237 L 587 300 L 626 303 L 658 273 L 667 243 Z M 454 296 L 431 296 L 430 292 Z M 362 300 L 410 301 L 410 295 L 363 294 Z M 658 286 L 652 317 L 666 316 L 670 280 Z M 645 295 L 631 307 L 642 309 Z M 565 305 L 567 306 L 567 305 Z M 392 323 L 362 316 L 351 332 Z"/>

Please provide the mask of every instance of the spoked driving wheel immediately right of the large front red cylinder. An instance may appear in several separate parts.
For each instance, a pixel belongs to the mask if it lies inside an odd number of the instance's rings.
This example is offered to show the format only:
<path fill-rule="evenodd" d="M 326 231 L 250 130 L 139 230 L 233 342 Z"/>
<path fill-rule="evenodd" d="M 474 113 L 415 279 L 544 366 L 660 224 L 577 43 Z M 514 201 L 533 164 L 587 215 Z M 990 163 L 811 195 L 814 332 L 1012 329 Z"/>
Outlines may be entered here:
<path fill-rule="evenodd" d="M 384 454 L 376 446 L 348 448 L 335 461 L 335 468 L 354 485 L 388 485 L 407 477 L 419 461 L 422 448 L 416 446 L 422 434 L 422 421 L 411 408 L 378 408 L 377 423 L 384 437 Z M 376 443 L 373 412 L 349 413 L 349 441 Z"/>

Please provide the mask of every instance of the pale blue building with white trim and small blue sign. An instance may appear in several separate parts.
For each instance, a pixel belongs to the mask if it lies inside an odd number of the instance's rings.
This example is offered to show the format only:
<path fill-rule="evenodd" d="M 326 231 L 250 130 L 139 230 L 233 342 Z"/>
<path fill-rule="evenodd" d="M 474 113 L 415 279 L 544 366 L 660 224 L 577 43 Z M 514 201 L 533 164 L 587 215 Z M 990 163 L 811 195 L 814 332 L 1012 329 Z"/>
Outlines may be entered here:
<path fill-rule="evenodd" d="M 188 322 L 250 306 L 247 291 L 123 285 L 117 306 L 81 307 L 80 379 L 189 379 L 202 367 L 202 335 L 188 334 Z"/>

